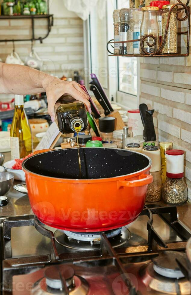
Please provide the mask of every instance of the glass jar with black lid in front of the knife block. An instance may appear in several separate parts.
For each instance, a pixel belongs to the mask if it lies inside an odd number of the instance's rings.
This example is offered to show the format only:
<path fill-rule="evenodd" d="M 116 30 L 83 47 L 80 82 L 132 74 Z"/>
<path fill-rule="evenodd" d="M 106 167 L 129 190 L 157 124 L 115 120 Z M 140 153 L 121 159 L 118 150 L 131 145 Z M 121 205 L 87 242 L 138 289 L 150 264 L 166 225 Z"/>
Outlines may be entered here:
<path fill-rule="evenodd" d="M 102 141 L 105 143 L 112 143 L 113 131 L 115 130 L 114 117 L 101 117 L 99 118 L 99 131 Z"/>

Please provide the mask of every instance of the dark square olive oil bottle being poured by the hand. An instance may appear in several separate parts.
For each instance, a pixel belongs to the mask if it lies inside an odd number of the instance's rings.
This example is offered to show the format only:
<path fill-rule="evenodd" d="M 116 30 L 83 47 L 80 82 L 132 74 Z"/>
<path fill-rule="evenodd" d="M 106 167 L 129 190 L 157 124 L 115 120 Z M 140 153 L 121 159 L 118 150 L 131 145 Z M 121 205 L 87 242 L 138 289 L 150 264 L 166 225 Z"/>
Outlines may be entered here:
<path fill-rule="evenodd" d="M 67 134 L 87 129 L 86 107 L 71 95 L 62 95 L 55 104 L 56 123 L 60 132 Z"/>

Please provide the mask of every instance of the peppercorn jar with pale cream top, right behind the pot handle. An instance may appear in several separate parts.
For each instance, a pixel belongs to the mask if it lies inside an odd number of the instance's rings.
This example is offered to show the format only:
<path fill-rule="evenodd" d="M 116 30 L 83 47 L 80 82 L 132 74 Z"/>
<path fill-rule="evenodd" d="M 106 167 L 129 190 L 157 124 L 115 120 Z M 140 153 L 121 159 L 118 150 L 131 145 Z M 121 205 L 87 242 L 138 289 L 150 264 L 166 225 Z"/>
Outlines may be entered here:
<path fill-rule="evenodd" d="M 156 145 L 146 145 L 142 154 L 147 155 L 152 160 L 150 175 L 153 176 L 153 182 L 148 185 L 146 201 L 158 202 L 161 200 L 161 152 Z"/>

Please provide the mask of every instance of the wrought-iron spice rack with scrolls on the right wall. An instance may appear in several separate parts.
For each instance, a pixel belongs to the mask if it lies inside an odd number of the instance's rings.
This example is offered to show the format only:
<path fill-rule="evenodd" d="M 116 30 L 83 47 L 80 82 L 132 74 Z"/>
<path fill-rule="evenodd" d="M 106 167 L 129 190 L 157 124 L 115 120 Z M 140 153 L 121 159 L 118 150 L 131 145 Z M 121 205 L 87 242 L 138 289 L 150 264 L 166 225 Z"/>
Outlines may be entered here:
<path fill-rule="evenodd" d="M 114 39 L 111 39 L 107 43 L 107 51 L 110 53 L 109 56 L 133 56 L 133 57 L 165 57 L 165 56 L 166 57 L 169 57 L 169 56 L 175 57 L 175 56 L 188 56 L 189 55 L 189 32 L 190 32 L 190 8 L 188 7 L 189 0 L 187 1 L 186 4 L 183 4 L 180 0 L 177 0 L 177 1 L 178 1 L 178 3 L 174 4 L 172 6 L 172 8 L 170 9 L 170 11 L 169 11 L 163 41 L 161 43 L 161 46 L 155 52 L 148 53 L 148 52 L 145 51 L 145 49 L 143 47 L 143 44 L 144 44 L 146 38 L 149 38 L 150 37 L 150 38 L 153 39 L 153 43 L 152 44 L 150 44 L 149 42 L 146 42 L 149 47 L 154 46 L 156 44 L 156 42 L 157 42 L 156 38 L 153 35 L 146 35 L 146 36 L 144 36 L 144 37 L 142 37 L 140 39 L 134 39 L 134 40 L 128 40 L 128 41 L 117 41 L 117 42 L 114 42 Z M 187 20 L 187 31 L 177 32 L 177 35 L 187 35 L 186 53 L 185 54 L 181 54 L 181 53 L 175 53 L 175 54 L 165 53 L 165 54 L 161 54 L 161 50 L 164 47 L 164 43 L 166 41 L 166 37 L 167 37 L 167 33 L 168 33 L 168 26 L 169 26 L 169 21 L 170 21 L 171 13 L 172 13 L 173 9 L 176 8 L 176 7 L 178 7 L 178 6 L 182 6 L 182 7 L 181 8 L 177 8 L 177 13 L 176 13 L 177 20 L 178 21 L 185 21 L 185 20 Z M 185 16 L 182 17 L 182 18 L 180 18 L 179 17 L 179 14 L 183 10 L 185 11 Z M 140 41 L 140 47 L 141 47 L 141 50 L 142 50 L 143 54 L 133 54 L 133 53 L 132 54 L 114 54 L 113 52 L 111 52 L 108 49 L 108 45 L 109 44 L 111 45 L 111 47 L 114 48 L 114 46 L 112 44 L 119 43 L 119 44 L 122 44 L 122 52 L 124 52 L 124 43 L 138 42 L 138 41 Z"/>

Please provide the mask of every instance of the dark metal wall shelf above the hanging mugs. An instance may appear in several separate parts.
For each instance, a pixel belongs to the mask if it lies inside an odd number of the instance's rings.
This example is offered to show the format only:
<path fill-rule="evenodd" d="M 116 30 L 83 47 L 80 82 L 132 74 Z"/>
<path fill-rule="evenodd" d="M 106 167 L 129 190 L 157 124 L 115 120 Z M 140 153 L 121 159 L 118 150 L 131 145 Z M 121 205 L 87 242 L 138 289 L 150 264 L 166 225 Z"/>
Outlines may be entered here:
<path fill-rule="evenodd" d="M 38 19 L 47 19 L 47 34 L 44 37 L 35 38 L 35 29 L 34 29 L 34 20 Z M 1 20 L 12 20 L 12 19 L 30 19 L 32 23 L 32 36 L 30 39 L 5 39 L 0 40 L 0 42 L 14 42 L 14 41 L 37 41 L 39 40 L 42 43 L 42 40 L 49 36 L 51 27 L 53 26 L 53 14 L 35 14 L 35 15 L 2 15 L 0 16 L 0 25 Z"/>

